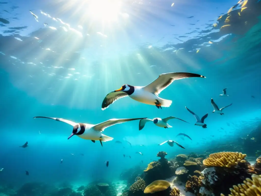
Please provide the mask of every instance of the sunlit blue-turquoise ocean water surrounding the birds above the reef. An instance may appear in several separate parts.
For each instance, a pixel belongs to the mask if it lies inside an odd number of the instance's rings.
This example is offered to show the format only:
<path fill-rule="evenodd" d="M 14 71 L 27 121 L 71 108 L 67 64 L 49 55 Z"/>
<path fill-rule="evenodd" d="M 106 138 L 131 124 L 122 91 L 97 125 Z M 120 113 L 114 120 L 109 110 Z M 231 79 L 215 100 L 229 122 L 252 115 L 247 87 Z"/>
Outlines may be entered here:
<path fill-rule="evenodd" d="M 204 154 L 246 137 L 261 117 L 260 11 L 256 0 L 1 1 L 1 184 L 113 182 L 126 169 L 146 168 L 159 151 L 166 158 Z M 170 107 L 125 97 L 102 111 L 109 92 L 168 72 L 206 78 L 175 80 L 160 94 L 173 101 Z M 228 97 L 219 96 L 223 88 Z M 220 107 L 233 104 L 221 116 L 212 113 L 211 98 Z M 194 126 L 185 106 L 199 117 L 209 113 L 207 129 Z M 173 128 L 147 123 L 140 131 L 138 120 L 114 125 L 104 131 L 114 140 L 102 147 L 77 136 L 67 140 L 72 126 L 35 116 L 90 124 L 174 116 L 189 124 L 172 119 Z M 185 149 L 158 145 L 166 140 Z"/>

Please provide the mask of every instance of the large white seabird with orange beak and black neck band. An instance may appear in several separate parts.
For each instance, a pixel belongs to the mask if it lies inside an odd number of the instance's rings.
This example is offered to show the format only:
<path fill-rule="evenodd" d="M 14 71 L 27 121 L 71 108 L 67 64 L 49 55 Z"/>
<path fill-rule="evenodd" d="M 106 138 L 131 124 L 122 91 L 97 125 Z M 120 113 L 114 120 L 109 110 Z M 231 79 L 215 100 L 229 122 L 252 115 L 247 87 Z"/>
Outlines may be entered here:
<path fill-rule="evenodd" d="M 157 108 L 162 109 L 162 107 L 169 107 L 172 101 L 162 99 L 158 95 L 161 93 L 161 91 L 173 83 L 174 80 L 190 77 L 205 78 L 204 76 L 195 73 L 174 72 L 160 74 L 157 79 L 144 87 L 124 84 L 121 88 L 106 95 L 102 102 L 102 110 L 109 107 L 109 105 L 116 100 L 127 96 L 141 103 L 154 105 Z"/>

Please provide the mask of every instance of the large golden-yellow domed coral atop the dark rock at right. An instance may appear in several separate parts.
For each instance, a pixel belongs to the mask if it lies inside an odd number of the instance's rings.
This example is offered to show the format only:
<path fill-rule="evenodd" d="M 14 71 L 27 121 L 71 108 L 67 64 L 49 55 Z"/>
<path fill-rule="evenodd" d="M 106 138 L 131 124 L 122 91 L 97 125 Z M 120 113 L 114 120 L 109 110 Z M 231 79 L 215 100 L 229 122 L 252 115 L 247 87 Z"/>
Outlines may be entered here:
<path fill-rule="evenodd" d="M 217 152 L 209 155 L 209 158 L 203 160 L 203 164 L 206 166 L 219 166 L 230 168 L 233 165 L 237 165 L 238 162 L 244 162 L 243 160 L 246 154 L 241 152 Z"/>

